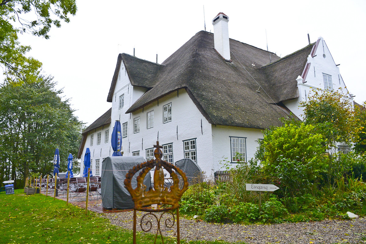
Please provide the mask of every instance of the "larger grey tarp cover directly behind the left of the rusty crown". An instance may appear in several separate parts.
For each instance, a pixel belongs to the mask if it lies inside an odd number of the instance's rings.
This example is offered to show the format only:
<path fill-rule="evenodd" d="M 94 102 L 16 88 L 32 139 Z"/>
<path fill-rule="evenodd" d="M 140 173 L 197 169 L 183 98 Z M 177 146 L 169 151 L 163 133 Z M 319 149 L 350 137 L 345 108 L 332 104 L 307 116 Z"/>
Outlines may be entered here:
<path fill-rule="evenodd" d="M 105 209 L 131 209 L 134 207 L 130 193 L 124 188 L 124 179 L 126 179 L 128 170 L 143 162 L 145 159 L 141 156 L 108 157 L 103 160 L 101 193 L 102 205 Z M 137 187 L 136 178 L 138 175 L 139 172 L 132 178 L 132 188 Z M 146 174 L 143 183 L 147 187 L 146 190 L 149 190 L 151 185 L 150 172 Z"/>

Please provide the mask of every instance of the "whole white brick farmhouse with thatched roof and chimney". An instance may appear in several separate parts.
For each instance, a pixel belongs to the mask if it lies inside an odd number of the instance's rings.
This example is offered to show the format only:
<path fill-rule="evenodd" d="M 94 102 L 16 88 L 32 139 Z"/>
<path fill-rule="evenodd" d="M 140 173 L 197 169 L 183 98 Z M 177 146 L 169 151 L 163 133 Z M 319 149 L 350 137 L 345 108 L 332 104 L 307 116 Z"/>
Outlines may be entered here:
<path fill-rule="evenodd" d="M 252 158 L 262 131 L 281 125 L 281 117 L 301 119 L 299 103 L 311 89 L 348 94 L 323 38 L 280 58 L 229 39 L 228 21 L 219 13 L 214 34 L 199 31 L 162 64 L 118 55 L 107 97 L 112 108 L 83 132 L 79 148 L 83 161 L 89 147 L 93 175 L 113 153 L 116 120 L 124 156 L 153 159 L 158 140 L 166 161 L 191 158 L 211 175 L 223 157 L 233 165 L 236 152 Z"/>

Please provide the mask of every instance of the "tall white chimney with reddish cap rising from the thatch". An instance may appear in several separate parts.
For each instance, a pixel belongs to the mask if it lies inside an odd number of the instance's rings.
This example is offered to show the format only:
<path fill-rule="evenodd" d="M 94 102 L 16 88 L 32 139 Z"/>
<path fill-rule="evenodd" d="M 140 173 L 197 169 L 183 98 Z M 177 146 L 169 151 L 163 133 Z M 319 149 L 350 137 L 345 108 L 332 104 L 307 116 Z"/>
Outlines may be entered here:
<path fill-rule="evenodd" d="M 212 20 L 215 49 L 226 60 L 230 60 L 228 22 L 229 17 L 224 13 L 219 13 Z"/>

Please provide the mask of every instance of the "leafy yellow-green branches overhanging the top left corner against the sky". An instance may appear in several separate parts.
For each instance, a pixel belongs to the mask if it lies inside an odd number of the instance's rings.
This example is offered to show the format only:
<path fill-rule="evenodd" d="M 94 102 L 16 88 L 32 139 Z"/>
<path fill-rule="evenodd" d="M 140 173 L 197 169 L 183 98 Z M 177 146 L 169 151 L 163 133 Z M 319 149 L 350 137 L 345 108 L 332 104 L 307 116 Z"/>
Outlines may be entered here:
<path fill-rule="evenodd" d="M 0 65 L 7 82 L 36 80 L 41 67 L 38 60 L 26 57 L 30 46 L 20 45 L 18 34 L 48 39 L 52 25 L 60 27 L 61 20 L 68 23 L 69 15 L 75 14 L 75 0 L 0 0 Z"/>

